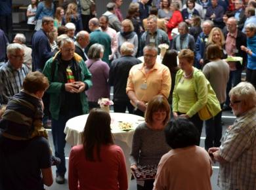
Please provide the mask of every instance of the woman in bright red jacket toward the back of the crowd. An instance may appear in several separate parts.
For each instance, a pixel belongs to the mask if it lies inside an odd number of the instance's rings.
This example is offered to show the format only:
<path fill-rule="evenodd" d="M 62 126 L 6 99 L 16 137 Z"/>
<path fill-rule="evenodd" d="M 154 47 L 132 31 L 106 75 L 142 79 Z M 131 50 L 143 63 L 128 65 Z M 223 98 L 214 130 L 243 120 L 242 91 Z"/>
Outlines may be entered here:
<path fill-rule="evenodd" d="M 170 5 L 170 10 L 173 12 L 173 16 L 171 16 L 170 20 L 166 24 L 167 34 L 170 41 L 173 39 L 173 37 L 171 37 L 171 31 L 173 28 L 177 28 L 179 23 L 183 21 L 179 8 L 179 3 L 177 2 L 172 2 Z"/>

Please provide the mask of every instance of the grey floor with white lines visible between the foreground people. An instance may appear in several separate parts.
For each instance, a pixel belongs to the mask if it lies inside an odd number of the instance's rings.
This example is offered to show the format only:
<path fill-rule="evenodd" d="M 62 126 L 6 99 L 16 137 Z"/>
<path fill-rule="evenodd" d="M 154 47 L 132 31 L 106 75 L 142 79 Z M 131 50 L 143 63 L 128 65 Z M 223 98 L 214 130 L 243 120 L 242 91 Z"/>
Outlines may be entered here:
<path fill-rule="evenodd" d="M 224 111 L 223 113 L 223 131 L 226 130 L 226 126 L 229 126 L 230 124 L 232 124 L 234 122 L 234 115 L 232 115 L 232 113 L 230 113 L 230 111 Z M 49 131 L 49 137 L 50 137 L 50 142 L 51 142 L 51 146 L 53 147 L 53 142 L 52 142 L 52 135 L 51 135 L 51 130 Z M 200 142 L 200 146 L 204 147 L 204 139 L 205 139 L 205 127 L 203 127 L 203 131 L 202 131 L 202 137 L 201 137 L 201 142 Z M 68 156 L 70 153 L 70 145 L 66 144 L 66 148 L 65 148 L 65 153 L 66 153 L 66 167 L 68 168 Z M 218 178 L 218 173 L 219 173 L 219 164 L 214 164 L 213 165 L 213 176 L 211 176 L 211 184 L 213 187 L 213 190 L 219 190 L 219 187 L 217 186 L 217 178 Z M 53 174 L 55 176 L 55 167 L 53 167 Z M 68 172 L 66 173 L 65 178 L 68 178 Z M 51 189 L 51 190 L 68 190 L 68 181 L 66 180 L 66 183 L 64 185 L 59 185 L 57 183 L 53 183 L 53 185 L 51 187 L 47 187 L 46 189 Z M 136 190 L 136 181 L 135 180 L 131 180 L 130 183 L 130 190 Z"/>

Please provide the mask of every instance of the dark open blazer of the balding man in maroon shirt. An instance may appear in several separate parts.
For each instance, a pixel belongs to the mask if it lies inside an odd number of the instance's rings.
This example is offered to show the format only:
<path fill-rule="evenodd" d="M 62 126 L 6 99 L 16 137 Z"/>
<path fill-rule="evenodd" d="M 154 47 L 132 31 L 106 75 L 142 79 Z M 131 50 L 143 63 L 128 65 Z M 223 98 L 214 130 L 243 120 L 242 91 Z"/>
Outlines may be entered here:
<path fill-rule="evenodd" d="M 226 36 L 228 35 L 228 31 L 224 33 L 224 37 L 226 39 Z M 243 65 L 241 65 L 239 62 L 236 63 L 236 68 L 237 69 L 243 69 L 247 63 L 247 54 L 246 52 L 241 50 L 241 46 L 244 45 L 245 47 L 247 46 L 247 39 L 246 35 L 242 33 L 242 31 L 238 30 L 238 35 L 236 37 L 236 49 L 238 52 L 236 52 L 235 56 L 240 56 L 243 58 Z"/>

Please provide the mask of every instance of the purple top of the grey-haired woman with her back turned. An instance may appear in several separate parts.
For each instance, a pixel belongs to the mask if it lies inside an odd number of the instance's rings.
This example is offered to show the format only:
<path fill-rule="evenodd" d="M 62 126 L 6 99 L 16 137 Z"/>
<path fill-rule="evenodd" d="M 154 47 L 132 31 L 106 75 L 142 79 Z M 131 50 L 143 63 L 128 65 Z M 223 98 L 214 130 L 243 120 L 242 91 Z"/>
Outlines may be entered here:
<path fill-rule="evenodd" d="M 99 98 L 110 98 L 110 86 L 108 85 L 108 74 L 110 67 L 102 60 L 87 60 L 85 62 L 92 74 L 93 86 L 86 91 L 89 102 L 98 102 Z"/>

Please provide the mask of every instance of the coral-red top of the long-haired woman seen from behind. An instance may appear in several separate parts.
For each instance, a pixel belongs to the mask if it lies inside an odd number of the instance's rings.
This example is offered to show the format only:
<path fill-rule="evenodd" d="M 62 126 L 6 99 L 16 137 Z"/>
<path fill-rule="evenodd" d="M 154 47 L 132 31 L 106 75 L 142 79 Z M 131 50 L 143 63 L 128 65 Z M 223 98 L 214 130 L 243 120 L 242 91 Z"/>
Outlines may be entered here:
<path fill-rule="evenodd" d="M 70 190 L 128 189 L 125 156 L 122 149 L 117 145 L 103 145 L 100 158 L 101 162 L 87 161 L 83 145 L 72 147 L 68 166 Z"/>

